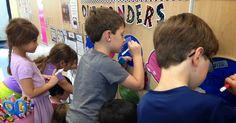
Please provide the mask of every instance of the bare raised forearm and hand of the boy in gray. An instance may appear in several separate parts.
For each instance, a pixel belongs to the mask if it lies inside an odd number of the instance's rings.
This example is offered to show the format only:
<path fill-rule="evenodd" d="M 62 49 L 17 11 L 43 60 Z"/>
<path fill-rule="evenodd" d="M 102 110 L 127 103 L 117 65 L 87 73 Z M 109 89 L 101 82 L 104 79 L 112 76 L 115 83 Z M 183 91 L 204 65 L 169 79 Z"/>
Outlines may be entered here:
<path fill-rule="evenodd" d="M 141 55 L 141 46 L 134 41 L 128 43 L 133 57 L 133 74 L 129 75 L 121 84 L 132 90 L 142 90 L 144 88 L 144 68 Z"/>

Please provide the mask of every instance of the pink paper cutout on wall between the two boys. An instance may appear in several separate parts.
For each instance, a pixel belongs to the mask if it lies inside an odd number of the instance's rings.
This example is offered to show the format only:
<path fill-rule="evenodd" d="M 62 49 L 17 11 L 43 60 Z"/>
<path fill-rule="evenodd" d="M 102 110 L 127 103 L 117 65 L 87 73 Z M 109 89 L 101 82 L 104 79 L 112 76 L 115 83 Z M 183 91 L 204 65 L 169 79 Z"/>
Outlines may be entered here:
<path fill-rule="evenodd" d="M 159 67 L 157 63 L 157 57 L 155 50 L 151 52 L 147 63 L 145 64 L 146 70 L 151 73 L 153 78 L 156 80 L 156 82 L 160 81 L 161 77 L 161 68 Z"/>

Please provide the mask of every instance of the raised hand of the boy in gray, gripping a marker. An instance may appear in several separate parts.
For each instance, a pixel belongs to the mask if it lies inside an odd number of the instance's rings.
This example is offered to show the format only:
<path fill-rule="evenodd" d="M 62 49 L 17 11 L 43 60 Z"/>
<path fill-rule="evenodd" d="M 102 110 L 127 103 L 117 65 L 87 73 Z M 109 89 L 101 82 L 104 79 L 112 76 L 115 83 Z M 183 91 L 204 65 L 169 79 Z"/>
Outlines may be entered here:
<path fill-rule="evenodd" d="M 137 42 L 129 41 L 128 46 L 133 57 L 141 56 L 141 46 Z"/>

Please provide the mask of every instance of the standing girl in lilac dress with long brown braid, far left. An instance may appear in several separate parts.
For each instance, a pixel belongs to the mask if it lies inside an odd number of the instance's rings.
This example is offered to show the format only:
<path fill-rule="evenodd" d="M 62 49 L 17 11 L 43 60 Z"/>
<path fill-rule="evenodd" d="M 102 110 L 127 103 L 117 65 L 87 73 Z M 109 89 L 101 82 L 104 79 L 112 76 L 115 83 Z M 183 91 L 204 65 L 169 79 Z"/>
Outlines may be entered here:
<path fill-rule="evenodd" d="M 52 73 L 46 83 L 39 69 L 26 53 L 34 53 L 39 31 L 34 24 L 23 18 L 15 18 L 6 28 L 9 47 L 8 73 L 16 79 L 22 95 L 34 103 L 34 123 L 50 123 L 53 108 L 48 90 L 58 82 Z"/>

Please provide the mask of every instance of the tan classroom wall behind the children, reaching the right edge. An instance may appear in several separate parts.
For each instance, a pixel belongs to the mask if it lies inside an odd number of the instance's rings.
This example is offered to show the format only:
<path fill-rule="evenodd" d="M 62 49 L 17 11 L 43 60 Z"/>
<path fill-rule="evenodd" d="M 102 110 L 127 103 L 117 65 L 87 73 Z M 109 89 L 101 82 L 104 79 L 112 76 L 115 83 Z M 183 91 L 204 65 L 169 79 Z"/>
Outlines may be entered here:
<path fill-rule="evenodd" d="M 24 0 L 20 0 L 24 1 Z M 25 0 L 26 1 L 26 0 Z M 37 0 L 40 1 L 40 0 Z M 41 0 L 44 10 L 44 17 L 47 24 L 47 37 L 49 43 L 52 42 L 50 28 L 56 28 L 61 30 L 67 30 L 82 35 L 85 44 L 86 33 L 84 31 L 84 22 L 88 16 L 88 12 L 93 7 L 112 7 L 118 10 L 118 7 L 124 5 L 125 10 L 128 6 L 135 8 L 136 5 L 141 5 L 141 16 L 144 20 L 147 7 L 150 6 L 154 9 L 154 15 L 152 17 L 153 26 L 147 27 L 144 24 L 136 24 L 135 20 L 133 24 L 126 24 L 126 34 L 135 36 L 142 45 L 144 62 L 146 63 L 148 57 L 153 50 L 153 32 L 158 23 L 160 17 L 158 16 L 156 9 L 159 4 L 163 4 L 161 10 L 165 14 L 164 19 L 168 19 L 172 15 L 178 13 L 188 12 L 190 1 L 193 1 L 193 13 L 205 20 L 213 29 L 216 37 L 219 39 L 220 49 L 217 56 L 225 56 L 229 58 L 236 58 L 236 1 L 235 0 L 145 0 L 143 2 L 135 2 L 138 0 L 104 0 L 104 1 L 91 1 L 91 0 L 77 0 L 78 2 L 78 28 L 72 28 L 69 22 L 63 20 L 62 6 L 68 4 L 68 0 Z M 40 28 L 38 19 L 38 3 L 30 2 L 29 19 L 34 22 L 37 27 Z M 84 8 L 83 8 L 84 7 Z M 19 8 L 19 6 L 18 6 Z M 19 8 L 20 9 L 20 8 Z M 83 9 L 86 10 L 83 11 Z M 84 13 L 85 12 L 85 13 Z M 136 12 L 136 11 L 135 11 Z M 124 12 L 124 18 L 127 17 L 127 11 Z M 86 14 L 84 16 L 84 14 Z M 137 18 L 135 18 L 137 19 Z M 152 77 L 150 77 L 152 78 Z M 154 87 L 156 82 L 151 79 L 151 86 Z"/>

